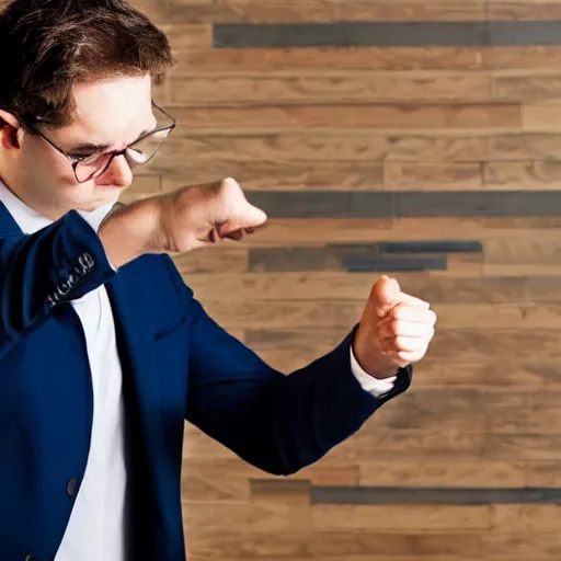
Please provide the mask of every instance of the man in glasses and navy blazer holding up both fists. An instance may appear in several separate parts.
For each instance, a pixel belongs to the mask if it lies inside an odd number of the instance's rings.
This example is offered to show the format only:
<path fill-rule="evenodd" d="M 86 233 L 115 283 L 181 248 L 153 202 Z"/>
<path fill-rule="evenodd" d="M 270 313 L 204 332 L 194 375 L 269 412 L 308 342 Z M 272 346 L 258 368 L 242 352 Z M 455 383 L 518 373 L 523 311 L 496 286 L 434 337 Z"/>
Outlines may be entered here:
<path fill-rule="evenodd" d="M 116 204 L 175 126 L 164 35 L 122 0 L 15 0 L 0 56 L 0 559 L 180 561 L 185 420 L 293 473 L 409 387 L 435 314 L 383 277 L 337 348 L 273 370 L 168 255 L 265 222 L 236 181 Z"/>

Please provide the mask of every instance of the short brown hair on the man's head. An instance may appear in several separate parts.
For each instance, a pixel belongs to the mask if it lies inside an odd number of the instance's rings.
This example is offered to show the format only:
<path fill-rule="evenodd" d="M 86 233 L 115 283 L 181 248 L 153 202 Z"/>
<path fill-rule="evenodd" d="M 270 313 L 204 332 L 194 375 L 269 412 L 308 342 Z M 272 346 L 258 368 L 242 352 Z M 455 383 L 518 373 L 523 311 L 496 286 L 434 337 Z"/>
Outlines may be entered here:
<path fill-rule="evenodd" d="M 160 84 L 174 62 L 164 33 L 124 0 L 12 0 L 0 60 L 0 108 L 50 128 L 73 121 L 76 82 L 149 73 Z"/>

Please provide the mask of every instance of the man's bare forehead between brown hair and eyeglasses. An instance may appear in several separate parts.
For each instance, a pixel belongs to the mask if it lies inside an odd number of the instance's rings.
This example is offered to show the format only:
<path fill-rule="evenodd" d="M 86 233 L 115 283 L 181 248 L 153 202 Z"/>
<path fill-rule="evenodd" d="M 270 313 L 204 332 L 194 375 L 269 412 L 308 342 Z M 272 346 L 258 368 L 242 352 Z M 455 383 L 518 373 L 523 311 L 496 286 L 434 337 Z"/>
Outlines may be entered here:
<path fill-rule="evenodd" d="M 156 124 L 151 88 L 149 76 L 78 83 L 77 119 L 60 131 L 68 140 L 127 144 Z"/>

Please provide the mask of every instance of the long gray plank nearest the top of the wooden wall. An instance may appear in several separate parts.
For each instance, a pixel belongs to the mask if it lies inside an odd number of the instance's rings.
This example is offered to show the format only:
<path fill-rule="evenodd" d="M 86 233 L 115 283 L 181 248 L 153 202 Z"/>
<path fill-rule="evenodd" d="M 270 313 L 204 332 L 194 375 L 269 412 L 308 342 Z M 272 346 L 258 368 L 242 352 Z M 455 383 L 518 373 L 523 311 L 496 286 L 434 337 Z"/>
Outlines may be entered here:
<path fill-rule="evenodd" d="M 217 23 L 217 48 L 561 44 L 561 21 Z"/>

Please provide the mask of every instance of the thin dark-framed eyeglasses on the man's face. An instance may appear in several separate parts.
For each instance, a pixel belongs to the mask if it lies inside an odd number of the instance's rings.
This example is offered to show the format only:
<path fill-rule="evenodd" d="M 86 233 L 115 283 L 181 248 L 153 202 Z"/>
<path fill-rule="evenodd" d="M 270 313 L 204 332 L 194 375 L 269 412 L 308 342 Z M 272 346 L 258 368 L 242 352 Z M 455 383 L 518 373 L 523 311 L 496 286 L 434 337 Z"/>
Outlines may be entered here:
<path fill-rule="evenodd" d="M 72 164 L 76 181 L 78 181 L 78 183 L 85 183 L 87 181 L 103 175 L 103 173 L 107 171 L 108 167 L 113 162 L 113 159 L 117 158 L 118 156 L 124 156 L 130 170 L 134 170 L 137 165 L 145 165 L 148 163 L 160 151 L 168 136 L 175 128 L 176 122 L 171 115 L 165 113 L 165 111 L 156 105 L 156 103 L 152 102 L 152 106 L 157 110 L 157 112 L 160 113 L 159 118 L 157 116 L 159 124 L 156 126 L 156 128 L 149 133 L 146 133 L 123 150 L 115 152 L 96 153 L 84 157 L 70 156 L 61 148 L 56 146 L 51 140 L 49 140 L 34 125 L 24 124 L 23 126 L 41 136 L 55 150 L 68 158 Z M 161 124 L 162 119 L 168 121 L 168 123 Z"/>

